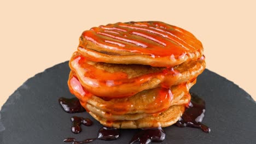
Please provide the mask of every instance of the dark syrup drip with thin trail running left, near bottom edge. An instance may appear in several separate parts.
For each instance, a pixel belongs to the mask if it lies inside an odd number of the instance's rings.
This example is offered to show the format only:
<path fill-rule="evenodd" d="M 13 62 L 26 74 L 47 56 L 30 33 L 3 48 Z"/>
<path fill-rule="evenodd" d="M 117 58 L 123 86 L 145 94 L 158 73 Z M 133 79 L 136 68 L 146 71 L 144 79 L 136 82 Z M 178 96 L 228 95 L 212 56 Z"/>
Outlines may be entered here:
<path fill-rule="evenodd" d="M 74 138 L 69 137 L 63 142 L 72 142 L 72 144 L 83 144 L 83 143 L 89 143 L 95 140 L 104 140 L 104 141 L 112 141 L 117 140 L 119 134 L 119 129 L 117 128 L 108 128 L 108 127 L 102 127 L 100 130 L 98 130 L 98 137 L 94 139 L 86 139 L 83 141 L 76 141 Z"/>

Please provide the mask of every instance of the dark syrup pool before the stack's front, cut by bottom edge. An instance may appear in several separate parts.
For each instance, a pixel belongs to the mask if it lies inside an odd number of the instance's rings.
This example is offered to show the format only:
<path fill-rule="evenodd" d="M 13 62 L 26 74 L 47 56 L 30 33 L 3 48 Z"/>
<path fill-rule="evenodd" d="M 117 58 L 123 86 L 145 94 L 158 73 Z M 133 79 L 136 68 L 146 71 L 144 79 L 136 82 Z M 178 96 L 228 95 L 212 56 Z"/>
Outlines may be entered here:
<path fill-rule="evenodd" d="M 162 142 L 165 140 L 165 131 L 161 127 L 153 129 L 141 129 L 136 135 L 134 135 L 130 141 L 130 144 L 139 142 L 141 144 L 148 144 L 150 142 Z"/>

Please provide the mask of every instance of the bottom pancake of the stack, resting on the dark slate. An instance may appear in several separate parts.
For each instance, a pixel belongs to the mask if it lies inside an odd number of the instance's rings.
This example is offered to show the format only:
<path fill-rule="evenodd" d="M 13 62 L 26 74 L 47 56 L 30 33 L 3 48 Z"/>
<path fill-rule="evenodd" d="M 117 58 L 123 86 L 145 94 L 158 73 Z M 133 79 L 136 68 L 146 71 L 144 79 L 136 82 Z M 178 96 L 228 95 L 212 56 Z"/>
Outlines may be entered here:
<path fill-rule="evenodd" d="M 137 129 L 137 128 L 157 128 L 168 127 L 176 123 L 185 111 L 185 105 L 173 105 L 158 115 L 149 115 L 135 121 L 108 121 L 106 118 L 100 117 L 95 113 L 89 112 L 101 124 L 106 127 L 114 127 L 120 129 Z"/>

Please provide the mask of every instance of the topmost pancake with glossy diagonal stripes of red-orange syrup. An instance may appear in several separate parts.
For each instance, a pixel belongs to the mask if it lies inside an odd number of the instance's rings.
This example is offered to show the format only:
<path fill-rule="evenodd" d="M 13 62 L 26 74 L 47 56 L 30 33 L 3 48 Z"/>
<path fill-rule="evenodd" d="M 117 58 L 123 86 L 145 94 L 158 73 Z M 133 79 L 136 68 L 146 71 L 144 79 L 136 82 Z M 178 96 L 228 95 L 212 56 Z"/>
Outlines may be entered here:
<path fill-rule="evenodd" d="M 78 51 L 91 61 L 173 67 L 202 56 L 193 34 L 164 22 L 128 22 L 83 32 Z"/>

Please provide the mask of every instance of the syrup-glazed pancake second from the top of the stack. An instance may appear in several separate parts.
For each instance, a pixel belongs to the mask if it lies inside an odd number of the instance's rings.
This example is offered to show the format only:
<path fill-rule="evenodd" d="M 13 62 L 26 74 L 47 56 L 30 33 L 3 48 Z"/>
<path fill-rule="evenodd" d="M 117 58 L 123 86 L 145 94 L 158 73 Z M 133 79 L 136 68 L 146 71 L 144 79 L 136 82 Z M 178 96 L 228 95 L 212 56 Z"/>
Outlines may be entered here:
<path fill-rule="evenodd" d="M 197 61 L 165 68 L 93 62 L 74 52 L 69 67 L 84 89 L 97 97 L 124 98 L 146 89 L 170 88 L 194 80 L 205 69 L 205 60 L 201 57 Z"/>

